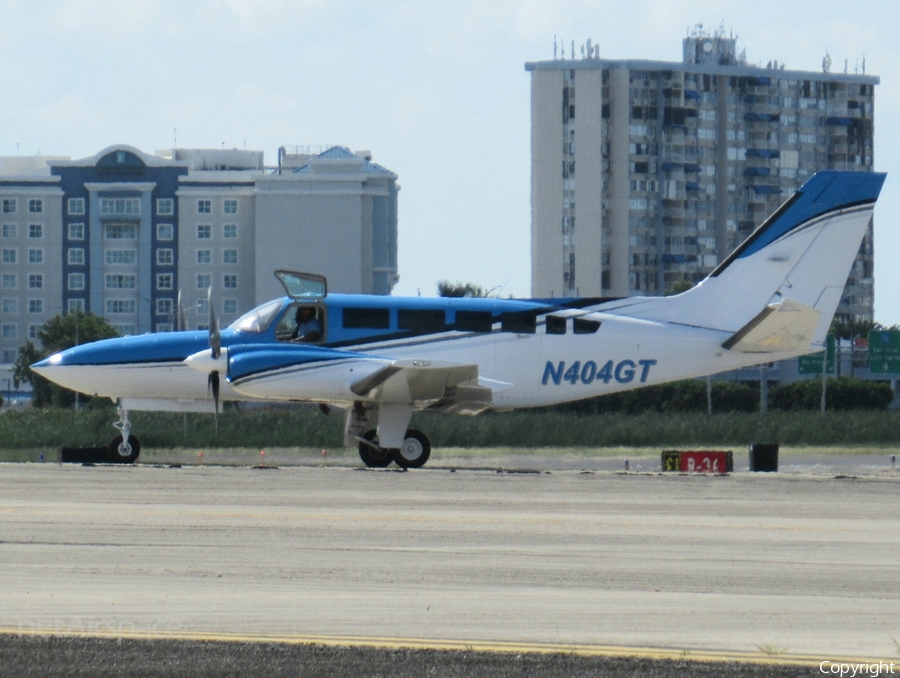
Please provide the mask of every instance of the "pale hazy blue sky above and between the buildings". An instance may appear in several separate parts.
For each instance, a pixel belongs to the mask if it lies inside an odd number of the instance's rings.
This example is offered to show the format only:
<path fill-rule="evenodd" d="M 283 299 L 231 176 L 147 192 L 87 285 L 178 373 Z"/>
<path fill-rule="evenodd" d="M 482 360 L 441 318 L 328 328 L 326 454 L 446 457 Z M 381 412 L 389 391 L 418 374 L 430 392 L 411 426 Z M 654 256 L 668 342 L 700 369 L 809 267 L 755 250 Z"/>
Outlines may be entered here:
<path fill-rule="evenodd" d="M 530 294 L 530 76 L 554 39 L 681 60 L 696 24 L 749 63 L 875 89 L 875 318 L 900 324 L 900 3 L 858 0 L 0 0 L 0 156 L 369 150 L 399 175 L 394 294 Z"/>

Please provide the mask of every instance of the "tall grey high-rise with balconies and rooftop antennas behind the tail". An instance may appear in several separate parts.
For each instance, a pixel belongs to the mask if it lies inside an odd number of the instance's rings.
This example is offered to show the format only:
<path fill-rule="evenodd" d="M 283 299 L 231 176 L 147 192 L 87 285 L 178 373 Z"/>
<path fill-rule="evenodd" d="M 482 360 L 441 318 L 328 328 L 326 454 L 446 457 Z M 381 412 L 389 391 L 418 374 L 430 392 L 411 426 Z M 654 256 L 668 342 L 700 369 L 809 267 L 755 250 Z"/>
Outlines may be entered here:
<path fill-rule="evenodd" d="M 871 75 L 747 63 L 724 29 L 681 62 L 531 73 L 532 295 L 665 294 L 701 280 L 818 170 L 873 169 Z M 865 71 L 865 62 L 863 62 Z M 872 319 L 872 227 L 838 317 Z"/>

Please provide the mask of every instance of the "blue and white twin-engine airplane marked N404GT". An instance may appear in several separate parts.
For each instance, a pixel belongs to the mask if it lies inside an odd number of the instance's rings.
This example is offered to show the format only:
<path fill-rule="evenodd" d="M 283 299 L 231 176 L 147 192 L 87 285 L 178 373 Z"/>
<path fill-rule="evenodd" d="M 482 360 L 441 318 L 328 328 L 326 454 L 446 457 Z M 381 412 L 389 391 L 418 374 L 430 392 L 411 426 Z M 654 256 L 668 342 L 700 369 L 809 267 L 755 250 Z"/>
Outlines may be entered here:
<path fill-rule="evenodd" d="M 129 410 L 212 412 L 221 398 L 343 408 L 345 444 L 367 466 L 420 467 L 431 445 L 407 429 L 414 410 L 552 405 L 821 350 L 884 180 L 819 172 L 677 296 L 326 294 L 324 278 L 278 271 L 287 296 L 221 332 L 211 318 L 209 333 L 107 339 L 32 369 L 118 400 L 125 460 L 139 450 Z"/>

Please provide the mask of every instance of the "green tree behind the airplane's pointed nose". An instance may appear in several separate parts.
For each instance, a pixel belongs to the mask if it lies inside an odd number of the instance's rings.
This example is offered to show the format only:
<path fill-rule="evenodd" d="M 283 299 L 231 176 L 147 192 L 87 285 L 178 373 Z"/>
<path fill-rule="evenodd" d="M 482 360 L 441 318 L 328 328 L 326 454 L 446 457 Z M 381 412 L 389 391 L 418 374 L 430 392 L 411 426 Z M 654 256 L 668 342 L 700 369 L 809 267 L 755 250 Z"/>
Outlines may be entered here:
<path fill-rule="evenodd" d="M 119 333 L 112 325 L 103 318 L 90 313 L 77 311 L 65 316 L 54 316 L 38 331 L 42 349 L 38 350 L 30 341 L 19 347 L 19 357 L 16 359 L 13 371 L 13 383 L 16 388 L 19 388 L 22 383 L 31 384 L 34 391 L 32 402 L 36 407 L 45 405 L 68 407 L 75 402 L 75 392 L 57 386 L 35 374 L 29 365 L 79 344 L 117 336 Z"/>

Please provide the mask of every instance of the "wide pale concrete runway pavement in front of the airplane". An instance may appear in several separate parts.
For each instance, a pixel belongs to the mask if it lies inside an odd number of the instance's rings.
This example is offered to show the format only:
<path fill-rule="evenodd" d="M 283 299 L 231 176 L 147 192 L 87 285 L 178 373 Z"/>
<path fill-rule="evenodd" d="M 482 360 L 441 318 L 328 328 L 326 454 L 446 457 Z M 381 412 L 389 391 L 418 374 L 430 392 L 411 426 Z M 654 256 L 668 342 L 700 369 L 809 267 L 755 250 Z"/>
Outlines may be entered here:
<path fill-rule="evenodd" d="M 0 627 L 896 661 L 898 492 L 890 477 L 2 464 Z"/>

